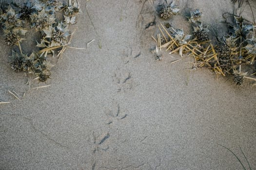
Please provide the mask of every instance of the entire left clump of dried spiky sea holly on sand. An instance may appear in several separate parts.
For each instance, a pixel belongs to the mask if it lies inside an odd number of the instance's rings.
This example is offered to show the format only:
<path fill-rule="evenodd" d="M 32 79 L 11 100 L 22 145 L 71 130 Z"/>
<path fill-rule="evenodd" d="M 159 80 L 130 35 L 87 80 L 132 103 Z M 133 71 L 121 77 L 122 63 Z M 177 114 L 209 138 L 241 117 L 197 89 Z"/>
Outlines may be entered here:
<path fill-rule="evenodd" d="M 57 12 L 62 17 L 56 17 Z M 76 15 L 80 12 L 77 0 L 67 0 L 66 4 L 58 0 L 27 0 L 23 5 L 1 3 L 0 24 L 4 42 L 13 47 L 9 57 L 11 68 L 36 76 L 40 82 L 49 79 L 53 67 L 49 56 L 54 57 L 56 51 L 60 56 L 65 51 L 71 35 L 68 26 L 76 23 Z M 40 43 L 34 40 L 37 42 L 35 49 L 39 48 L 39 51 L 25 54 L 22 42 L 26 33 L 33 30 L 40 34 Z"/>

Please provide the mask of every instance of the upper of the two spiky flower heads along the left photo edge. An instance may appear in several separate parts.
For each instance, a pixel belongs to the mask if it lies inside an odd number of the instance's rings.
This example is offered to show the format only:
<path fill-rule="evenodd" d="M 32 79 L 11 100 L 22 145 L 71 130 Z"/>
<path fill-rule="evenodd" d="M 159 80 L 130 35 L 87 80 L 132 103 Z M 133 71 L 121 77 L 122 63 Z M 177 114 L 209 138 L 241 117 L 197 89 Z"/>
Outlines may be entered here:
<path fill-rule="evenodd" d="M 5 29 L 21 27 L 22 25 L 22 21 L 19 19 L 18 14 L 16 14 L 15 10 L 11 6 L 8 6 L 8 9 L 1 15 L 1 18 Z"/>

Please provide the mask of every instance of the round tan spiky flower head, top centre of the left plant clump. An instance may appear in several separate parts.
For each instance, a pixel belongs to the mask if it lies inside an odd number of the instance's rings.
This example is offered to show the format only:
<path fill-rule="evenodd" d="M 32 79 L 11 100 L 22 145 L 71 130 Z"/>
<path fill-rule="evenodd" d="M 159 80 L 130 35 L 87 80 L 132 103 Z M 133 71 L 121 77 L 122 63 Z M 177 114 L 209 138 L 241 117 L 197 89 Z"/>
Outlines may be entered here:
<path fill-rule="evenodd" d="M 48 29 L 55 23 L 54 15 L 49 14 L 44 9 L 38 12 L 38 14 L 32 14 L 30 17 L 32 26 L 36 28 L 36 31 Z"/>

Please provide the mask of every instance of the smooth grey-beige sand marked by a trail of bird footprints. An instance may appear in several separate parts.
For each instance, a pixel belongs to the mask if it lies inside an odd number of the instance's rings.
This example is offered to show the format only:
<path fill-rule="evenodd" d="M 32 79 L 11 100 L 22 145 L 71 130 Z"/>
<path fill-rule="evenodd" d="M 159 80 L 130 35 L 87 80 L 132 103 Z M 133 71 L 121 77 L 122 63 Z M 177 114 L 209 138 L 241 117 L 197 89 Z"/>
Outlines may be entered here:
<path fill-rule="evenodd" d="M 188 71 L 188 57 L 171 64 L 180 57 L 164 53 L 156 61 L 149 48 L 157 27 L 145 26 L 157 2 L 80 4 L 72 46 L 96 40 L 86 50 L 65 51 L 46 84 L 32 82 L 46 88 L 28 91 L 31 79 L 11 70 L 0 34 L 0 100 L 10 102 L 0 104 L 0 170 L 242 169 L 219 144 L 247 166 L 240 147 L 256 168 L 255 86 L 234 85 L 207 69 Z M 217 30 L 222 13 L 233 11 L 230 0 L 177 4 L 181 14 L 199 8 Z M 243 13 L 251 19 L 249 12 Z M 171 22 L 189 32 L 184 17 Z M 25 96 L 17 100 L 8 90 Z"/>

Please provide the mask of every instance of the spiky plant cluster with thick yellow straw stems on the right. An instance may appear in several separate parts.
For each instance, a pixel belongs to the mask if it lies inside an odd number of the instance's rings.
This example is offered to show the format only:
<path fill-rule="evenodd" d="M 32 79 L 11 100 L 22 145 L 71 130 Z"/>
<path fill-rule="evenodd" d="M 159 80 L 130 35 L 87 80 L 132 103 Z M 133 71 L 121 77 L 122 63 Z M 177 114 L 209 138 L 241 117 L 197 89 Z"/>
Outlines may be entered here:
<path fill-rule="evenodd" d="M 249 71 L 242 71 L 249 68 L 250 71 L 256 70 L 253 68 L 256 60 L 256 25 L 246 22 L 243 17 L 232 15 L 234 22 L 227 24 L 230 32 L 217 37 L 218 43 L 213 45 L 208 26 L 200 21 L 202 16 L 199 9 L 190 13 L 188 20 L 194 29 L 192 35 L 185 35 L 182 29 L 160 24 L 161 34 L 154 38 L 157 48 L 166 48 L 170 54 L 179 52 L 180 56 L 191 55 L 195 58 L 194 69 L 211 68 L 219 75 L 233 75 L 236 85 L 242 85 L 244 78 L 256 81 L 255 73 L 249 75 Z"/>

